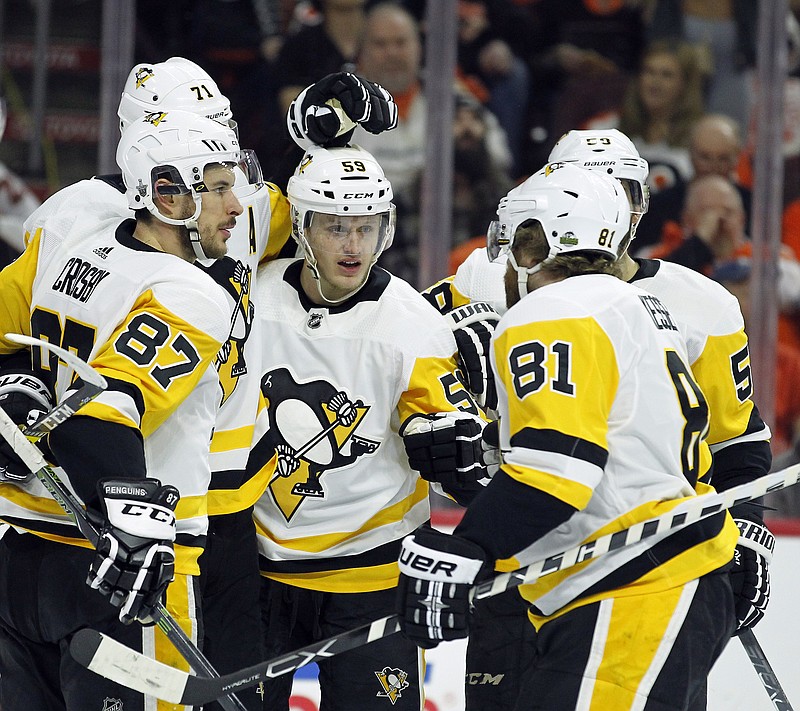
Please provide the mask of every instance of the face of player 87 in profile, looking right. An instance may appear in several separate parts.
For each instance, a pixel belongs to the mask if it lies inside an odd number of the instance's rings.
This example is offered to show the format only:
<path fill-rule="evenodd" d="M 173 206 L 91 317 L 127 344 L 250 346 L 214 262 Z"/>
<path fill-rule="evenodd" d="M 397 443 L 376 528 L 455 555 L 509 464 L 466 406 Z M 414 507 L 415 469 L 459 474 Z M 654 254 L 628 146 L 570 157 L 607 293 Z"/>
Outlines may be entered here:
<path fill-rule="evenodd" d="M 219 259 L 228 252 L 227 241 L 242 205 L 233 194 L 235 174 L 223 165 L 206 167 L 203 178 L 208 192 L 201 194 L 202 210 L 197 220 L 200 244 L 209 259 Z"/>

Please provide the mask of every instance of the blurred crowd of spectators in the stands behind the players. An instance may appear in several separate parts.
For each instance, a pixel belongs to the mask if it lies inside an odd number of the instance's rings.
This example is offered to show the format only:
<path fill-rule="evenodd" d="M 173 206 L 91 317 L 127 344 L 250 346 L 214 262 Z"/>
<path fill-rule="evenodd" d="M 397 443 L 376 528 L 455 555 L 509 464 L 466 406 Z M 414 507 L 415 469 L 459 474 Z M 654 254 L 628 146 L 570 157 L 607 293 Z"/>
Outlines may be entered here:
<path fill-rule="evenodd" d="M 615 127 L 650 164 L 650 210 L 633 255 L 674 260 L 717 279 L 748 318 L 760 1 L 459 0 L 451 272 L 483 243 L 499 198 L 541 167 L 564 132 Z M 397 101 L 398 127 L 380 136 L 358 129 L 355 140 L 375 155 L 394 188 L 397 236 L 381 263 L 424 288 L 416 282 L 428 101 L 425 4 L 139 0 L 134 59 L 180 55 L 203 66 L 230 97 L 242 142 L 281 187 L 298 159 L 285 111 L 302 87 L 340 70 L 383 85 Z M 800 375 L 798 6 L 790 3 L 787 16 L 776 373 L 782 382 Z M 12 178 L 0 189 L 8 194 L 0 195 L 4 219 L 32 209 L 31 196 Z M 6 249 L 7 261 L 14 245 Z M 770 424 L 776 459 L 800 459 L 798 391 L 777 388 Z"/>

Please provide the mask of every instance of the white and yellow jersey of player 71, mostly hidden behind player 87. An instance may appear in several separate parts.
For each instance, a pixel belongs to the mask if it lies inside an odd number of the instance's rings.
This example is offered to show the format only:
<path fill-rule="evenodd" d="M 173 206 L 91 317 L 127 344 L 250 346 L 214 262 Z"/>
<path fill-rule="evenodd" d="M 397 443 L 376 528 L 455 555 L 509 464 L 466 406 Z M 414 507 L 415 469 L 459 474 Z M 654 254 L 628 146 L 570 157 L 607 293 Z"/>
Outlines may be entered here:
<path fill-rule="evenodd" d="M 128 208 L 120 175 L 82 180 L 49 197 L 25 222 L 26 239 L 58 215 L 80 205 L 87 224 L 98 225 L 133 216 Z M 232 513 L 252 506 L 264 490 L 263 480 L 248 481 L 247 456 L 252 444 L 253 426 L 260 406 L 257 378 L 260 372 L 260 325 L 255 319 L 252 300 L 258 263 L 277 256 L 293 256 L 289 240 L 289 206 L 281 191 L 270 183 L 253 191 L 234 190 L 243 212 L 236 220 L 228 240 L 228 254 L 216 262 L 200 265 L 227 295 L 233 315 L 229 333 L 214 365 L 219 372 L 222 405 L 211 441 L 209 515 Z M 94 228 L 89 228 L 89 232 Z M 250 344 L 249 346 L 247 344 Z"/>

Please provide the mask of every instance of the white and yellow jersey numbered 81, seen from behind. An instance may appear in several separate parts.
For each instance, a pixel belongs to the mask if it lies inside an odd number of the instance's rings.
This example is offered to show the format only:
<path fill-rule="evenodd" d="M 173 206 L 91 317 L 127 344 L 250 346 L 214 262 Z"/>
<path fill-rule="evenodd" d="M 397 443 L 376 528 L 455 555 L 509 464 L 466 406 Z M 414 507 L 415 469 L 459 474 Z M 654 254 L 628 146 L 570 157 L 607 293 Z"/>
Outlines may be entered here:
<path fill-rule="evenodd" d="M 708 490 L 697 483 L 711 462 L 703 441 L 707 405 L 676 319 L 658 298 L 609 275 L 549 284 L 502 317 L 492 359 L 502 472 L 577 509 L 533 543 L 520 539 L 519 551 L 500 569 L 663 514 L 695 496 L 695 487 Z M 482 510 L 498 483 L 496 476 L 462 523 L 487 550 L 495 534 Z M 528 516 L 536 521 L 537 512 L 526 510 Z M 504 521 L 512 532 L 525 524 Z M 727 563 L 737 539 L 733 520 L 720 514 L 548 575 L 520 592 L 552 615 L 610 594 L 663 590 Z"/>

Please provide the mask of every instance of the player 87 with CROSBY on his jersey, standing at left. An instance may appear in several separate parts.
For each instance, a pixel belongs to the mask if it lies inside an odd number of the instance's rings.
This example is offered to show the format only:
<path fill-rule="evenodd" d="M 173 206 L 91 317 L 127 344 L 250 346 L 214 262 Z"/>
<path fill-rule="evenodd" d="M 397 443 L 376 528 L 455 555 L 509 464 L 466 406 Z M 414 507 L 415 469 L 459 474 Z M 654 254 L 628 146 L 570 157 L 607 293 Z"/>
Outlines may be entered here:
<path fill-rule="evenodd" d="M 233 130 L 181 111 L 128 126 L 117 163 L 133 219 L 98 221 L 75 204 L 38 229 L 0 272 L 0 333 L 72 350 L 109 384 L 48 436 L 65 480 L 102 529 L 96 552 L 39 480 L 6 460 L 5 711 L 144 711 L 141 694 L 72 660 L 70 635 L 92 626 L 185 669 L 159 630 L 129 624 L 147 625 L 165 590 L 187 634 L 198 631 L 193 581 L 207 529 L 208 441 L 219 404 L 210 366 L 227 338 L 231 309 L 222 289 L 193 265 L 192 242 L 222 257 L 242 214 L 234 183 L 260 176 Z M 30 410 L 61 400 L 73 374 L 34 348 L 32 368 L 23 354 L 28 378 L 15 379 L 18 349 L 0 336 L 0 404 L 24 422 Z M 155 708 L 153 700 L 147 704 Z"/>

